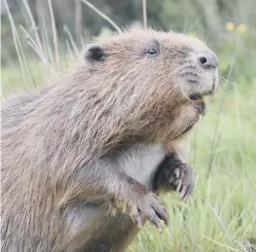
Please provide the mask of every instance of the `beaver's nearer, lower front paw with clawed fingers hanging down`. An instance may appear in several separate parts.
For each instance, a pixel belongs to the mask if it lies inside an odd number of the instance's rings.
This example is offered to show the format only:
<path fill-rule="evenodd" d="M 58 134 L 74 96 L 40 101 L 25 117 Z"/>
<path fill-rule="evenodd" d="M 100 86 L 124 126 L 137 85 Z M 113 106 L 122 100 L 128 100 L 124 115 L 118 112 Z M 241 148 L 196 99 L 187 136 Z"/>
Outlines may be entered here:
<path fill-rule="evenodd" d="M 160 219 L 168 224 L 168 214 L 159 200 L 153 193 L 147 193 L 136 199 L 136 203 L 128 205 L 128 215 L 138 225 L 142 227 L 142 219 L 145 216 L 157 228 L 161 227 Z"/>

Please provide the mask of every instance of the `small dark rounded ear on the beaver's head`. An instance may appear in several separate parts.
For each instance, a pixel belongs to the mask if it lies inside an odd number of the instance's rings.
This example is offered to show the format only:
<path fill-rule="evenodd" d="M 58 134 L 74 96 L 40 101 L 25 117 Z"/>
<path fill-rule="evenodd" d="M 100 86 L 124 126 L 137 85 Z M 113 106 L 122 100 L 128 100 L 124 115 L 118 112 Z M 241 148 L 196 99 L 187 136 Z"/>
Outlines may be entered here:
<path fill-rule="evenodd" d="M 101 45 L 90 45 L 85 51 L 85 59 L 91 63 L 102 62 L 105 59 L 105 52 Z"/>

